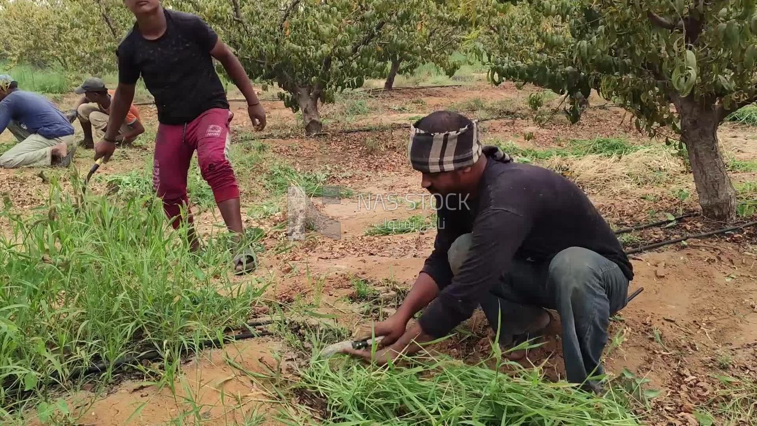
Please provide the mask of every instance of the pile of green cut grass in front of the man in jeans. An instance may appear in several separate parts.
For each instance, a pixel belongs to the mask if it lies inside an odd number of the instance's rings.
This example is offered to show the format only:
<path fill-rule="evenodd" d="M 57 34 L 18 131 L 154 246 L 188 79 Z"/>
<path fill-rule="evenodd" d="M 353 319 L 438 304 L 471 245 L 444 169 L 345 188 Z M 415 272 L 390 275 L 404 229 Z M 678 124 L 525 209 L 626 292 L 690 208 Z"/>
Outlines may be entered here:
<path fill-rule="evenodd" d="M 413 356 L 403 359 L 408 366 L 381 368 L 338 361 L 314 359 L 295 385 L 322 400 L 322 424 L 638 424 L 612 391 L 600 397 L 552 383 L 501 357 L 466 365 Z M 514 371 L 498 371 L 505 364 Z"/>

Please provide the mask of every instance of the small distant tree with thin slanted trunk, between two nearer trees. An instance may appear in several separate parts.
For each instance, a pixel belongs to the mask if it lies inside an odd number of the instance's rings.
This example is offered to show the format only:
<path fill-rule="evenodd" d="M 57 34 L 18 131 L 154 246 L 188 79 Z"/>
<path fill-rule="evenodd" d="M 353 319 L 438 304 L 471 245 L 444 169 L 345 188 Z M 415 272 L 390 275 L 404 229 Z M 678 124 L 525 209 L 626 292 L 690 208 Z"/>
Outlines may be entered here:
<path fill-rule="evenodd" d="M 452 58 L 472 33 L 471 16 L 463 13 L 459 2 L 428 0 L 417 10 L 410 22 L 389 26 L 391 36 L 382 44 L 380 58 L 388 64 L 385 90 L 394 87 L 397 74 L 413 73 L 423 64 L 436 64 L 447 76 L 453 76 L 460 62 Z"/>

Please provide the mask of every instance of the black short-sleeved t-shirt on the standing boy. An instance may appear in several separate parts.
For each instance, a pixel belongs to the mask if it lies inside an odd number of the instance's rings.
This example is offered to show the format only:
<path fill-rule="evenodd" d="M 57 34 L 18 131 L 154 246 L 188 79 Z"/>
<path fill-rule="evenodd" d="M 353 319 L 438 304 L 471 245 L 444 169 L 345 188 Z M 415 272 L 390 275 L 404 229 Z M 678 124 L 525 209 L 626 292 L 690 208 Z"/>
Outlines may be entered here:
<path fill-rule="evenodd" d="M 167 29 L 159 39 L 145 39 L 135 23 L 118 46 L 119 82 L 135 84 L 142 75 L 164 124 L 188 123 L 211 108 L 228 108 L 210 55 L 218 35 L 196 15 L 164 12 Z"/>

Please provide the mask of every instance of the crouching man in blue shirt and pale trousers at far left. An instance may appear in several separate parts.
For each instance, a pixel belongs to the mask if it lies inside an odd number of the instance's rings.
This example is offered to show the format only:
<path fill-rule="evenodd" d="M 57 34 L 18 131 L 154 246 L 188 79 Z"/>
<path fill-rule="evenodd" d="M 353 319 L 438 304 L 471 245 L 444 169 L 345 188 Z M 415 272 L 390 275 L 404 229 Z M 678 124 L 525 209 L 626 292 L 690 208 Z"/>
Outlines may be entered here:
<path fill-rule="evenodd" d="M 0 76 L 0 133 L 8 129 L 18 144 L 0 156 L 0 167 L 64 166 L 73 157 L 73 126 L 47 98 L 18 89 Z"/>

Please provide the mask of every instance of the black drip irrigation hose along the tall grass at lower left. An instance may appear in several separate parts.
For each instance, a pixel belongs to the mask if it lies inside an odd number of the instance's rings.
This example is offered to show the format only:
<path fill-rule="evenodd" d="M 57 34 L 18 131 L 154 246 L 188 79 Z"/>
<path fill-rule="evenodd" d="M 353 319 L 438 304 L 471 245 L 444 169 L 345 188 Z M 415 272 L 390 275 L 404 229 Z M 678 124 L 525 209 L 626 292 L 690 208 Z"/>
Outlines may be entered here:
<path fill-rule="evenodd" d="M 269 319 L 257 319 L 251 322 L 248 322 L 247 325 L 250 327 L 257 327 L 260 325 L 266 325 L 273 322 Z M 240 334 L 231 334 L 228 336 L 223 337 L 217 337 L 215 339 L 207 339 L 207 340 L 201 340 L 200 343 L 196 347 L 188 347 L 187 345 L 184 345 L 181 349 L 181 353 L 190 353 L 192 351 L 196 350 L 202 350 L 207 347 L 220 347 L 221 343 L 228 343 L 228 342 L 235 342 L 239 340 L 247 340 L 252 339 L 254 337 L 264 337 L 264 336 L 272 336 L 273 333 L 270 331 L 264 331 L 264 330 L 256 330 L 256 331 L 248 331 L 247 333 L 240 333 Z M 122 365 L 132 364 L 135 362 L 142 362 L 142 361 L 154 361 L 156 359 L 163 359 L 163 355 L 157 351 L 157 350 L 148 350 L 147 352 L 140 353 L 139 355 L 129 355 L 124 356 L 123 358 L 116 359 L 115 361 L 111 362 L 100 362 L 95 365 L 89 365 L 86 366 L 80 366 L 78 368 L 74 368 L 73 372 L 66 378 L 66 381 L 72 381 L 76 378 L 80 378 L 82 376 L 86 375 L 94 375 L 101 372 L 107 371 L 108 368 L 116 369 L 119 368 Z M 49 378 L 52 381 L 58 381 L 60 375 L 58 375 L 58 372 L 52 372 Z M 32 390 L 21 390 L 22 384 L 8 384 L 11 382 L 10 380 L 6 380 L 6 383 L 3 384 L 3 390 L 5 393 L 16 393 L 17 395 L 23 396 L 26 393 L 31 393 Z M 16 382 L 16 381 L 12 381 Z"/>

